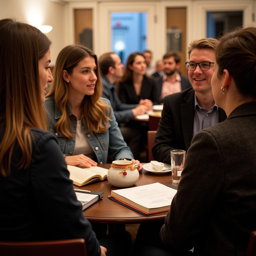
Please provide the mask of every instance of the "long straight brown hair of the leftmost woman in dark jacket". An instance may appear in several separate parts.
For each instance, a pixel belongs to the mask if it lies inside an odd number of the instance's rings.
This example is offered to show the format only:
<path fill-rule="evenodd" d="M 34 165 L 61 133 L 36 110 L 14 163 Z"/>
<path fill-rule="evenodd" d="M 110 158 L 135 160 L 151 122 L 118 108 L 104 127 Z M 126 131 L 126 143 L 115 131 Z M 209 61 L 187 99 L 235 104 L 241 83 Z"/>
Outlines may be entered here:
<path fill-rule="evenodd" d="M 10 172 L 11 158 L 18 145 L 22 152 L 19 168 L 31 162 L 32 128 L 46 130 L 41 104 L 38 61 L 51 45 L 37 28 L 0 20 L 0 170 Z"/>

